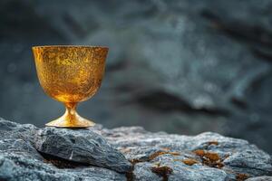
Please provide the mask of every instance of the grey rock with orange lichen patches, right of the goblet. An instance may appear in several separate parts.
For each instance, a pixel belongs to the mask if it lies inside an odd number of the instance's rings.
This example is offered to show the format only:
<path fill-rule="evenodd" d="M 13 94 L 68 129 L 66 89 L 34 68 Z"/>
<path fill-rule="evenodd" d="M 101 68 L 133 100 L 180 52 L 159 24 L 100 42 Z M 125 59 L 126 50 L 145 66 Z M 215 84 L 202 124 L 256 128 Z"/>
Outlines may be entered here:
<path fill-rule="evenodd" d="M 139 127 L 99 132 L 135 162 L 137 169 L 133 173 L 138 177 L 152 178 L 152 167 L 171 170 L 169 180 L 235 180 L 238 176 L 272 175 L 271 157 L 243 139 L 212 132 L 195 137 L 151 133 Z M 196 163 L 190 166 L 184 160 Z"/>

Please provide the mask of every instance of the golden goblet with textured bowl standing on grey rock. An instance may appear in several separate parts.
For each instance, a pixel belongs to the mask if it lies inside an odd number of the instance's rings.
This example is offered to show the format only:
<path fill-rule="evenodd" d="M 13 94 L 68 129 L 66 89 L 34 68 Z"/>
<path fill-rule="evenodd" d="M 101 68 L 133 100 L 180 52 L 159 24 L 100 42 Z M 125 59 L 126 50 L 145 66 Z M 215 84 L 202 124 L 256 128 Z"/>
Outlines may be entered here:
<path fill-rule="evenodd" d="M 88 100 L 100 88 L 108 48 L 99 46 L 34 46 L 38 79 L 46 94 L 64 103 L 64 115 L 50 127 L 87 128 L 94 123 L 76 112 L 78 102 Z"/>

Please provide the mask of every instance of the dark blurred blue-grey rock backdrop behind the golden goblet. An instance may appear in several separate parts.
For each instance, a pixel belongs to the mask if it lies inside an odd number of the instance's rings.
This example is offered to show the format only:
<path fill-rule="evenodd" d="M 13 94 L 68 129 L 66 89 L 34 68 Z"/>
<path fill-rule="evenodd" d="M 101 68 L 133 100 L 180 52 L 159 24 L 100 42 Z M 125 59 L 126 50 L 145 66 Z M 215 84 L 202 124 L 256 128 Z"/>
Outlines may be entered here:
<path fill-rule="evenodd" d="M 101 90 L 79 112 L 107 128 L 216 131 L 272 153 L 271 0 L 1 0 L 0 116 L 44 123 L 33 45 L 110 47 Z"/>

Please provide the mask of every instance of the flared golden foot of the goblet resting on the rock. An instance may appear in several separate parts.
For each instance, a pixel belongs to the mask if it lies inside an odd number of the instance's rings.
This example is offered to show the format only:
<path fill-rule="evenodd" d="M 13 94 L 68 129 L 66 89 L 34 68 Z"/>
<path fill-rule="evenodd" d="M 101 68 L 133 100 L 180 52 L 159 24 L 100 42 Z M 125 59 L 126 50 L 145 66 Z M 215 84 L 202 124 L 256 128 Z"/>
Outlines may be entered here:
<path fill-rule="evenodd" d="M 57 128 L 69 128 L 69 129 L 83 129 L 88 127 L 93 127 L 94 122 L 88 119 L 83 119 L 79 115 L 74 115 L 73 118 L 67 117 L 65 113 L 61 118 L 54 119 L 53 121 L 45 124 L 47 127 L 57 127 Z"/>

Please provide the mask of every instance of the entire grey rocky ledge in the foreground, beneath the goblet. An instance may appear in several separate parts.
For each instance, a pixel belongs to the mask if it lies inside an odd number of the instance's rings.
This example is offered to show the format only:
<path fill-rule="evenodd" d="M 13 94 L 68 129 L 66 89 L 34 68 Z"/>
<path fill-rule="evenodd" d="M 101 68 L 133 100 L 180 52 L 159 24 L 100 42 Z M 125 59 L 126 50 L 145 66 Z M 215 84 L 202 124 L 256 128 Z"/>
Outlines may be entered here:
<path fill-rule="evenodd" d="M 272 180 L 271 157 L 248 141 L 141 127 L 37 129 L 0 119 L 0 180 Z"/>

